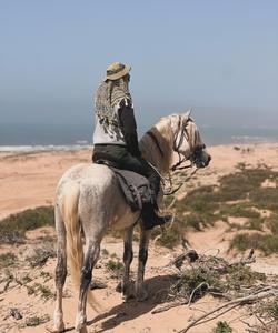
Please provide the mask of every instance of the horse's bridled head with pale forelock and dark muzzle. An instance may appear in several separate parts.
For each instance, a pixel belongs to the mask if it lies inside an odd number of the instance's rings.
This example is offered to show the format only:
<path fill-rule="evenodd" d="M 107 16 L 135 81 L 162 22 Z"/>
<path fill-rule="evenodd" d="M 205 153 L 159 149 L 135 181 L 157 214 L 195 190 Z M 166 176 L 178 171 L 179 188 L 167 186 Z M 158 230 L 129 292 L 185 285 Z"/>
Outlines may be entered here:
<path fill-rule="evenodd" d="M 177 115 L 172 122 L 173 151 L 190 160 L 197 168 L 205 168 L 209 164 L 211 157 L 206 151 L 199 130 L 190 118 L 190 111 Z"/>

